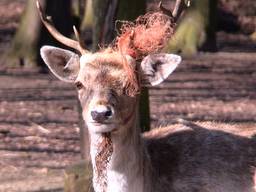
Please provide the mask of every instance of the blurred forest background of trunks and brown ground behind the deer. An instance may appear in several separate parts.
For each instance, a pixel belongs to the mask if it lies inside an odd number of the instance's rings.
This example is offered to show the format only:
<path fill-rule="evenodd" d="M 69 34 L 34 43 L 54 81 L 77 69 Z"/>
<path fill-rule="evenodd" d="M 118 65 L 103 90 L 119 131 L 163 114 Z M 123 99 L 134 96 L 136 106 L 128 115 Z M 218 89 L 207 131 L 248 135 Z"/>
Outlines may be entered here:
<path fill-rule="evenodd" d="M 113 41 L 116 20 L 159 11 L 156 0 L 40 2 L 61 33 L 73 37 L 75 25 L 92 51 Z M 143 91 L 143 128 L 180 117 L 254 129 L 255 2 L 184 0 L 188 3 L 164 48 L 184 61 L 165 84 Z M 174 4 L 162 1 L 169 10 Z M 90 177 L 80 172 L 83 164 L 70 166 L 81 153 L 87 157 L 86 131 L 80 129 L 72 85 L 49 75 L 40 59 L 45 44 L 67 48 L 43 27 L 35 0 L 0 0 L 0 191 L 63 191 L 64 178 L 65 191 L 79 191 L 79 182 Z"/>

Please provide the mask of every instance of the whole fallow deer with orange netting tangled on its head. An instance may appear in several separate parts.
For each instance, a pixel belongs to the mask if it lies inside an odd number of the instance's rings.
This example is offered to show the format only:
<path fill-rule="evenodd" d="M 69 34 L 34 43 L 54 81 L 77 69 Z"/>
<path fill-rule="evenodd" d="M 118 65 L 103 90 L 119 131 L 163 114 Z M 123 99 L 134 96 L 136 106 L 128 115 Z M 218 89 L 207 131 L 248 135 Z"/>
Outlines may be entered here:
<path fill-rule="evenodd" d="M 181 62 L 178 55 L 155 52 L 171 34 L 172 22 L 153 15 L 161 19 L 146 27 L 141 22 L 128 26 L 116 47 L 91 53 L 79 41 L 61 35 L 38 2 L 37 6 L 49 32 L 81 54 L 41 48 L 51 72 L 78 89 L 90 134 L 96 192 L 254 191 L 255 141 L 186 122 L 140 133 L 140 87 L 160 84 Z"/>

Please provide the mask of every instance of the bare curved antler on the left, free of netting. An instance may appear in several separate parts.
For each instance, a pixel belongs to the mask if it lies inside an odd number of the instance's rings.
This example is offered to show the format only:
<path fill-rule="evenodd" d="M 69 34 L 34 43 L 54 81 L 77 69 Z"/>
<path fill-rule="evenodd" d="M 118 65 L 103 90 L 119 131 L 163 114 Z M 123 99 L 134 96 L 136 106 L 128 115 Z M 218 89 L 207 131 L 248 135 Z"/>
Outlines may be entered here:
<path fill-rule="evenodd" d="M 61 42 L 62 44 L 68 46 L 68 47 L 72 47 L 76 50 L 78 50 L 81 54 L 84 54 L 84 53 L 87 53 L 88 50 L 86 50 L 83 46 L 83 42 L 80 40 L 80 37 L 79 37 L 79 33 L 78 31 L 76 30 L 76 27 L 73 26 L 73 30 L 74 30 L 74 33 L 76 35 L 76 38 L 77 38 L 77 41 L 73 40 L 73 39 L 70 39 L 70 38 L 67 38 L 65 37 L 64 35 L 62 35 L 53 25 L 51 19 L 49 16 L 47 16 L 44 12 L 43 12 L 43 9 L 39 3 L 39 0 L 36 1 L 36 5 L 37 5 L 37 8 L 38 8 L 38 11 L 39 11 L 39 15 L 40 15 L 40 18 L 44 24 L 44 26 L 48 29 L 48 31 L 51 33 L 51 35 L 56 39 L 58 40 L 59 42 Z"/>

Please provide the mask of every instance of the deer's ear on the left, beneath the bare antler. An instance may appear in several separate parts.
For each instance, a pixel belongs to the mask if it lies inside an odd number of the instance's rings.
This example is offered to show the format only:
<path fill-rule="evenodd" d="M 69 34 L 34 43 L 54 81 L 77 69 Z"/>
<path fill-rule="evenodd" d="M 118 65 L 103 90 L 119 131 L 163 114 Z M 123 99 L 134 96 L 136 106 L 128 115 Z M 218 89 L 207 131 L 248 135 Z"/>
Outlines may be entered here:
<path fill-rule="evenodd" d="M 60 80 L 74 82 L 79 72 L 79 56 L 72 51 L 43 46 L 41 57 L 51 72 Z"/>

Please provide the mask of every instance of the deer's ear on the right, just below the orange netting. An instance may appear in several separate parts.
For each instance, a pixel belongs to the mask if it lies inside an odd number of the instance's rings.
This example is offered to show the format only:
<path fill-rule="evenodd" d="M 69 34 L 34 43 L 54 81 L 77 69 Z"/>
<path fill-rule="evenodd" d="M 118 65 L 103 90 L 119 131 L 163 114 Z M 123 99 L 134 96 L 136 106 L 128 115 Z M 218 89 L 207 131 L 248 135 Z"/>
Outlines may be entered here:
<path fill-rule="evenodd" d="M 142 83 L 152 86 L 162 83 L 181 62 L 181 57 L 174 54 L 152 54 L 141 62 Z"/>

